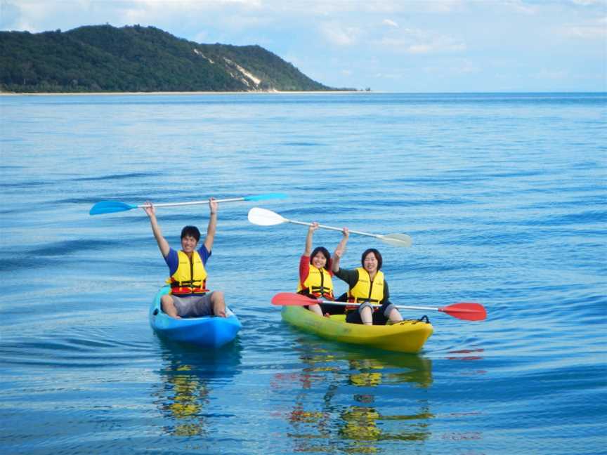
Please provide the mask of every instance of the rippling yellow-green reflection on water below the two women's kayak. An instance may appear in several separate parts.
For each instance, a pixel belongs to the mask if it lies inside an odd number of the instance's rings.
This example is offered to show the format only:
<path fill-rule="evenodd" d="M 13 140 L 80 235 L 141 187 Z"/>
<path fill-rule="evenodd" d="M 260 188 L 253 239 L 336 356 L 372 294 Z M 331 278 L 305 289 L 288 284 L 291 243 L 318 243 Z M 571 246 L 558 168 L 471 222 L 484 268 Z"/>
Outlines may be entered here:
<path fill-rule="evenodd" d="M 398 352 L 307 347 L 299 355 L 298 381 L 290 378 L 294 403 L 287 421 L 294 451 L 374 453 L 379 441 L 429 438 L 434 416 L 424 390 L 432 384 L 431 360 Z"/>

